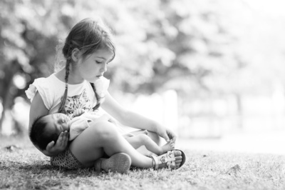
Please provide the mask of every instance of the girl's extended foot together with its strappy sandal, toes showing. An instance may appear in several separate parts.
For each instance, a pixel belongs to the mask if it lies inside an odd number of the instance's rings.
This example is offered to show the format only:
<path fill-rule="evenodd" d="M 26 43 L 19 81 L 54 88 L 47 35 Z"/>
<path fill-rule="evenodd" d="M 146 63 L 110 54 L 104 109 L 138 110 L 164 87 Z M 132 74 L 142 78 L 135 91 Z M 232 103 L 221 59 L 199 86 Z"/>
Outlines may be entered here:
<path fill-rule="evenodd" d="M 152 159 L 154 169 L 178 169 L 185 163 L 186 156 L 183 151 L 175 149 L 160 156 L 152 156 Z"/>

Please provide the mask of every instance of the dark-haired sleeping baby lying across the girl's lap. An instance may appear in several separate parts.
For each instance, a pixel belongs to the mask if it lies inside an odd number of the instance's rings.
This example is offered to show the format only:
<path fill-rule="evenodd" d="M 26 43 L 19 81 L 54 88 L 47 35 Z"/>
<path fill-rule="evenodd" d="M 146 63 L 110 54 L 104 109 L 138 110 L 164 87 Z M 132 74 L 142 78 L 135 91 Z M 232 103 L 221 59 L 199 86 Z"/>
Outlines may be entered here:
<path fill-rule="evenodd" d="M 69 131 L 69 141 L 72 141 L 76 136 L 81 134 L 83 130 L 90 126 L 89 122 L 91 121 L 110 121 L 118 126 L 115 119 L 108 116 L 108 114 L 98 116 L 98 114 L 84 113 L 83 109 L 78 109 L 74 111 L 73 119 L 61 113 L 39 117 L 33 122 L 29 136 L 33 144 L 44 150 L 48 143 L 51 141 L 56 142 L 59 134 L 63 131 Z M 158 146 L 155 141 L 152 141 L 152 139 L 147 136 L 146 130 L 143 134 L 136 136 L 130 133 L 123 134 L 123 136 L 135 149 L 144 145 L 147 150 L 157 155 L 164 154 L 175 148 L 175 144 L 172 140 L 163 146 Z"/>

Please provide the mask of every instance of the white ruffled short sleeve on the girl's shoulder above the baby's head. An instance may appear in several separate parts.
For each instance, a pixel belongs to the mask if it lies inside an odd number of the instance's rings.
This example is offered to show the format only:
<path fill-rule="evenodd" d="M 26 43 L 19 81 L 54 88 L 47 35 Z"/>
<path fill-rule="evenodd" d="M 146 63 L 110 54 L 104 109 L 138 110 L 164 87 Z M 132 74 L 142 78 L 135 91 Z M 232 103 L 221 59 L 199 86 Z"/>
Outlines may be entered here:
<path fill-rule="evenodd" d="M 26 96 L 30 101 L 33 101 L 33 97 L 36 95 L 36 92 L 41 95 L 41 99 L 43 99 L 43 104 L 45 104 L 46 108 L 49 110 L 53 104 L 52 93 L 52 85 L 46 78 L 39 78 L 33 81 L 33 84 L 28 86 L 28 89 L 25 91 Z"/>

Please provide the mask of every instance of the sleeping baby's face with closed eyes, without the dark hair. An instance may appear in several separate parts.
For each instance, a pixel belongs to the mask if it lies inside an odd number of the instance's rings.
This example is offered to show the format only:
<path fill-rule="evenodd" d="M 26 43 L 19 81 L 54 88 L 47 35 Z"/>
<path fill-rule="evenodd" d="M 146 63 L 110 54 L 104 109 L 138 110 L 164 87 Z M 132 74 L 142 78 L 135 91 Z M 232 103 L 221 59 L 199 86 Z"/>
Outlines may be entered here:
<path fill-rule="evenodd" d="M 46 126 L 47 131 L 56 131 L 61 134 L 63 131 L 69 131 L 69 125 L 71 119 L 66 114 L 56 113 L 45 116 L 45 120 L 48 123 Z"/>

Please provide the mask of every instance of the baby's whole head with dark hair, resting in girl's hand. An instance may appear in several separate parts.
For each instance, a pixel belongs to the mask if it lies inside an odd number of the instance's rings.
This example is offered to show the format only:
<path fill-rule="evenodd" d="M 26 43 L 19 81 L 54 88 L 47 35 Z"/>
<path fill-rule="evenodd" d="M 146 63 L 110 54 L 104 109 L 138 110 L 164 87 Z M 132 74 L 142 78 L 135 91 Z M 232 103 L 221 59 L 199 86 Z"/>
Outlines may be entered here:
<path fill-rule="evenodd" d="M 69 131 L 69 119 L 66 114 L 56 113 L 36 119 L 30 131 L 30 139 L 40 149 L 45 150 L 48 143 L 56 142 L 63 131 Z"/>

